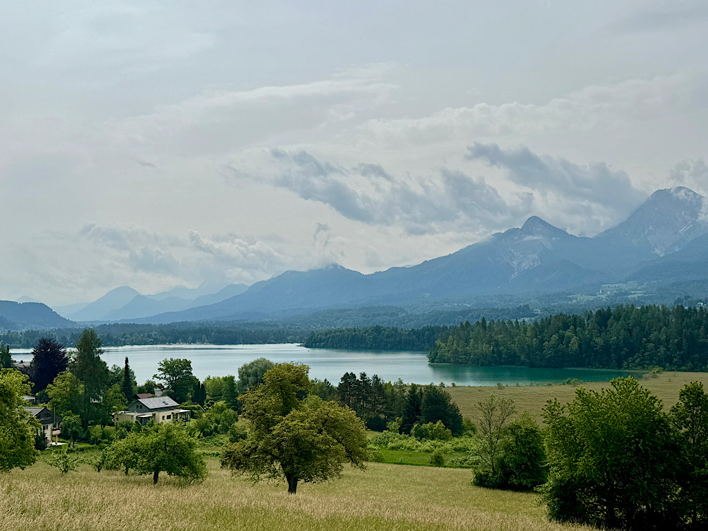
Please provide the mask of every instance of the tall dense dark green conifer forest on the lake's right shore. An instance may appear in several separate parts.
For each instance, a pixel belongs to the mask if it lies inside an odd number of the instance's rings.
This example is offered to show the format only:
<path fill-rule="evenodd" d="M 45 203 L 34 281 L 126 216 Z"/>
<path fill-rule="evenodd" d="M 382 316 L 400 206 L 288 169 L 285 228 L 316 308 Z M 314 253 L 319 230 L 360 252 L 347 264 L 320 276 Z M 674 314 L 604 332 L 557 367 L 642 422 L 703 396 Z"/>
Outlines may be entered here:
<path fill-rule="evenodd" d="M 430 362 L 528 367 L 708 370 L 708 312 L 618 306 L 532 323 L 466 322 L 443 331 Z"/>

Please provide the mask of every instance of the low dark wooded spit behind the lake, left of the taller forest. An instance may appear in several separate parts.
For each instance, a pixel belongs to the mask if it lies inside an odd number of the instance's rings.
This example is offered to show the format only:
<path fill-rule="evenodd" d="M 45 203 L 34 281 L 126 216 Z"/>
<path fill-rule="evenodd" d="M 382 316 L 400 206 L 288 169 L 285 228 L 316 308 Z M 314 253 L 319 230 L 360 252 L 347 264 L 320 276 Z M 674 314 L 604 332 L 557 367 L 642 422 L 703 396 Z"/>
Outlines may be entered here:
<path fill-rule="evenodd" d="M 307 348 L 355 348 L 361 350 L 429 350 L 447 326 L 394 329 L 368 326 L 361 329 L 333 329 L 311 332 Z"/>

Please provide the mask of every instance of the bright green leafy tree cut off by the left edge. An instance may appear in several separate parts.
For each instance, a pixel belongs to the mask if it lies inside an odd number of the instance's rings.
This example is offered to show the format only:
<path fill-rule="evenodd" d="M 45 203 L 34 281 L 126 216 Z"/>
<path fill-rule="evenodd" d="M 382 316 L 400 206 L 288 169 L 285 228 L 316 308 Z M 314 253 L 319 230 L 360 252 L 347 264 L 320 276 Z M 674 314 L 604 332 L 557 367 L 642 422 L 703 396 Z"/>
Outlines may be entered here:
<path fill-rule="evenodd" d="M 0 472 L 33 464 L 35 434 L 39 423 L 23 409 L 23 394 L 29 394 L 27 376 L 14 369 L 0 369 Z"/>

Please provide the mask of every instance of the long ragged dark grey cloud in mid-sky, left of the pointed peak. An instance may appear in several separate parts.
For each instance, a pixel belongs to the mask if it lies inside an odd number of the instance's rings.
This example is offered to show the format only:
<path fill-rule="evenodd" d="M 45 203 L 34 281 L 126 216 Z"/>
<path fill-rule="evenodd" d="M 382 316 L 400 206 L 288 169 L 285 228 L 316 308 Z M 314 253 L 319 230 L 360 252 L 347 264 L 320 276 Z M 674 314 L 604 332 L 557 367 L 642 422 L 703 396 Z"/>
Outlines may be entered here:
<path fill-rule="evenodd" d="M 400 226 L 409 234 L 480 224 L 499 229 L 510 219 L 520 219 L 530 207 L 526 197 L 510 204 L 484 178 L 461 171 L 441 169 L 433 177 L 396 178 L 377 164 L 337 166 L 304 151 L 274 149 L 271 156 L 282 168 L 267 180 L 272 185 L 329 205 L 348 219 Z"/>

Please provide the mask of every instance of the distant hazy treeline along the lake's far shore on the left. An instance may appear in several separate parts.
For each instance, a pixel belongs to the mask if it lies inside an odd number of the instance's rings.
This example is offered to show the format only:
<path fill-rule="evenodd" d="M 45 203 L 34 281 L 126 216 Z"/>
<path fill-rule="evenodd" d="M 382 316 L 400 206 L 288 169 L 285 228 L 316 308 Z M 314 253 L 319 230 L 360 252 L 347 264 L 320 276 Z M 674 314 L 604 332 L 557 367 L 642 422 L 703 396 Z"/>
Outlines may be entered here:
<path fill-rule="evenodd" d="M 302 343 L 307 330 L 268 324 L 101 324 L 93 330 L 103 346 L 163 345 L 166 343 L 210 343 L 213 345 L 261 345 Z M 33 348 L 40 338 L 74 345 L 81 329 L 25 330 L 0 333 L 0 343 L 11 348 Z"/>

